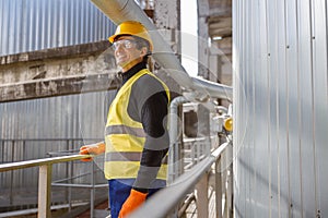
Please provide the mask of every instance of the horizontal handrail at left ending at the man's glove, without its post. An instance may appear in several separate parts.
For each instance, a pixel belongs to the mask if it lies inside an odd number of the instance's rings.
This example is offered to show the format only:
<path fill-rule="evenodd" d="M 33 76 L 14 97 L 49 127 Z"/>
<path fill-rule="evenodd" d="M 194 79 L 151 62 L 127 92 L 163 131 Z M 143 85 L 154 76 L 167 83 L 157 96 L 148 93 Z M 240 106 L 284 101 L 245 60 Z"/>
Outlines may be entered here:
<path fill-rule="evenodd" d="M 39 167 L 45 165 L 54 165 L 59 162 L 67 162 L 72 160 L 80 160 L 83 158 L 92 157 L 90 155 L 68 155 L 62 157 L 51 157 L 51 158 L 43 158 L 43 159 L 35 159 L 35 160 L 24 160 L 19 162 L 9 162 L 0 165 L 0 172 L 10 171 L 10 170 L 17 170 L 24 169 L 30 167 Z"/>

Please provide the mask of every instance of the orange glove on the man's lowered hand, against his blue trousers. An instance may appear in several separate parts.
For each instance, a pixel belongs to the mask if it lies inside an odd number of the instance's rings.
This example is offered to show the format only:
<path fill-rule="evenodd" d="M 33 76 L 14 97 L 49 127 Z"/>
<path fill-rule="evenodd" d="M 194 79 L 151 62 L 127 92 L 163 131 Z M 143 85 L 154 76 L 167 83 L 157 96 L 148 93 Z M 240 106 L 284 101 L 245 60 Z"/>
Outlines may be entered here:
<path fill-rule="evenodd" d="M 137 209 L 141 204 L 144 203 L 147 197 L 145 193 L 131 190 L 130 196 L 126 199 L 121 206 L 118 218 L 124 218 Z"/>

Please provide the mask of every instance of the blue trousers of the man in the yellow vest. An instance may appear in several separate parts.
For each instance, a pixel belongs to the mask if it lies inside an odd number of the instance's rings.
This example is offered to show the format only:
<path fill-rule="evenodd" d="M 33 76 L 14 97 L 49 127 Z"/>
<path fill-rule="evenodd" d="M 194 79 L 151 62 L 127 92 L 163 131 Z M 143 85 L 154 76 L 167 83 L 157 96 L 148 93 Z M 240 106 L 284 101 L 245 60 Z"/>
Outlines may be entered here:
<path fill-rule="evenodd" d="M 109 185 L 109 205 L 112 218 L 118 218 L 120 208 L 130 195 L 134 179 L 108 180 Z M 155 180 L 149 190 L 147 198 L 157 192 L 161 187 L 166 186 L 165 180 Z"/>

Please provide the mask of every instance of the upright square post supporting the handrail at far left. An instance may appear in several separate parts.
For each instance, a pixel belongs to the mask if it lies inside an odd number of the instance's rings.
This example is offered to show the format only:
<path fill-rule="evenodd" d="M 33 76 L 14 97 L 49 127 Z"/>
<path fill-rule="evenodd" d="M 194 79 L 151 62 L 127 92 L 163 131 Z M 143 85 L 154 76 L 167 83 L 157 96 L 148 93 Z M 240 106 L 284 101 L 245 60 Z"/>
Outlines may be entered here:
<path fill-rule="evenodd" d="M 39 167 L 38 172 L 38 218 L 51 217 L 51 173 L 52 165 Z"/>

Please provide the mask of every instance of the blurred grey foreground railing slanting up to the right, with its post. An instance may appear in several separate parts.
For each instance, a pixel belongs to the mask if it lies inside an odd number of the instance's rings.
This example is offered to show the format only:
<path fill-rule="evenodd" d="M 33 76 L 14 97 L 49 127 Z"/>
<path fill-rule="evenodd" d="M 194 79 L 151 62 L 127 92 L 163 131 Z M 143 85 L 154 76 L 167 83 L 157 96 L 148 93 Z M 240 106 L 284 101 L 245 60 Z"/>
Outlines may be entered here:
<path fill-rule="evenodd" d="M 140 217 L 166 217 L 172 213 L 176 206 L 184 199 L 184 197 L 190 193 L 198 182 L 200 182 L 203 175 L 210 170 L 211 166 L 215 162 L 215 175 L 219 175 L 219 167 L 221 160 L 221 154 L 230 145 L 224 143 L 218 147 L 209 157 L 197 164 L 190 171 L 181 174 L 169 186 L 159 191 L 149 201 L 144 203 L 142 207 L 137 209 L 129 218 Z M 221 183 L 221 178 L 215 178 L 215 182 Z M 218 185 L 220 186 L 220 184 Z M 221 186 L 215 190 L 215 204 L 216 213 L 222 211 L 222 189 Z M 207 215 L 198 214 L 198 217 L 208 217 Z"/>

